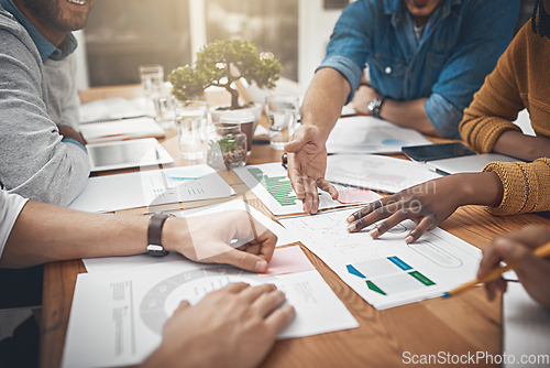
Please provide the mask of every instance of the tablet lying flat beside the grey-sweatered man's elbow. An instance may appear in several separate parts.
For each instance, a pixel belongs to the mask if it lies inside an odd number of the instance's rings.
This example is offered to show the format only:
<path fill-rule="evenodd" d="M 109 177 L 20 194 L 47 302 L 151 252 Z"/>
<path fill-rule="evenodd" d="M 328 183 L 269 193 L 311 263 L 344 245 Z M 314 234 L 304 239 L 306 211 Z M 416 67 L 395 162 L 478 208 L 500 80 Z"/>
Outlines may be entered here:
<path fill-rule="evenodd" d="M 154 138 L 86 144 L 92 172 L 173 163 Z"/>

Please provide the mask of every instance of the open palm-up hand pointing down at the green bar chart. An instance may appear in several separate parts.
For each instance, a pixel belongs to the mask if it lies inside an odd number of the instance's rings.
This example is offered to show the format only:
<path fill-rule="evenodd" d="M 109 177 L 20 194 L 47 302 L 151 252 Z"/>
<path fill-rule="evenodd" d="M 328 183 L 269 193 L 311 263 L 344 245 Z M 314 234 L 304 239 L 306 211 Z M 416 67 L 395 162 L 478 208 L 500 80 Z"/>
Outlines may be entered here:
<path fill-rule="evenodd" d="M 338 198 L 337 190 L 324 180 L 327 148 L 321 129 L 301 126 L 285 145 L 288 153 L 288 177 L 296 197 L 304 202 L 304 210 L 316 214 L 319 209 L 317 187 Z"/>

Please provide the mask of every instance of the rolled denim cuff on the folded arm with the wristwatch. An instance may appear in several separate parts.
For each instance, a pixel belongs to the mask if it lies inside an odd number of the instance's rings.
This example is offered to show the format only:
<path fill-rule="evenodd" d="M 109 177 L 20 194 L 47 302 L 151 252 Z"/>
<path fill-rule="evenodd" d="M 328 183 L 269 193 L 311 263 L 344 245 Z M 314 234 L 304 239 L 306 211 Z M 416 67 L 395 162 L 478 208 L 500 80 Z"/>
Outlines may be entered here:
<path fill-rule="evenodd" d="M 439 136 L 447 139 L 460 139 L 459 123 L 462 120 L 462 111 L 443 96 L 431 94 L 424 105 L 424 110 Z"/>

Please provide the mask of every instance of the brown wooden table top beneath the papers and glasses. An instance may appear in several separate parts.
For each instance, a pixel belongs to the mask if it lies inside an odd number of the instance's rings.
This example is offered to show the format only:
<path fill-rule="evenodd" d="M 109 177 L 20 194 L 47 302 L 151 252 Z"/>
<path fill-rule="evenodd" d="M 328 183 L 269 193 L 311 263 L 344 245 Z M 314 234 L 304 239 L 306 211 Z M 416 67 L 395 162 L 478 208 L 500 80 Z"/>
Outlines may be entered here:
<path fill-rule="evenodd" d="M 92 88 L 80 93 L 84 102 L 140 95 L 138 86 Z M 224 93 L 208 94 L 207 97 L 211 105 L 227 100 Z M 173 165 L 189 164 L 179 159 L 177 143 L 170 139 L 173 137 L 172 132 L 163 142 L 176 159 Z M 280 151 L 272 150 L 270 145 L 254 145 L 249 163 L 279 160 Z M 132 170 L 109 174 L 129 171 Z M 237 175 L 227 172 L 222 176 L 255 208 L 273 217 Z M 229 199 L 166 205 L 162 209 L 184 209 Z M 124 213 L 144 215 L 147 209 L 138 208 Z M 535 214 L 494 217 L 482 207 L 466 206 L 446 220 L 441 228 L 483 249 L 496 235 L 518 230 L 527 224 L 550 225 L 550 219 Z M 449 353 L 459 356 L 469 353 L 475 355 L 476 351 L 502 354 L 502 300 L 487 302 L 481 288 L 449 300 L 436 299 L 376 311 L 307 248 L 301 246 L 301 249 L 359 321 L 360 327 L 278 342 L 263 367 L 394 367 L 403 365 L 405 351 L 411 355 L 438 355 L 439 351 L 444 351 L 446 355 Z M 40 351 L 42 367 L 61 365 L 73 293 L 80 272 L 86 272 L 80 260 L 45 266 Z"/>

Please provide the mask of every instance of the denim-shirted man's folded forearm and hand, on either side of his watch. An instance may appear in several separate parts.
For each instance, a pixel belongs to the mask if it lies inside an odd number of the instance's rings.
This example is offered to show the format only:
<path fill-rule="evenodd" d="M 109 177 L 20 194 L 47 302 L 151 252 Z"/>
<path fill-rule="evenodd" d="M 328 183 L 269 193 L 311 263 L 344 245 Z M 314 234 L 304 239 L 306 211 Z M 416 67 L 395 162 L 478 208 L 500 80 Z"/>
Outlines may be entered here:
<path fill-rule="evenodd" d="M 380 97 L 380 95 L 374 88 L 362 85 L 355 91 L 355 96 L 350 106 L 360 113 L 370 115 L 367 106 L 375 97 Z M 425 134 L 439 137 L 439 133 L 426 116 L 425 105 L 427 100 L 427 98 L 418 98 L 410 101 L 396 101 L 386 98 L 384 104 L 382 104 L 380 116 L 384 120 L 392 121 L 398 126 L 416 129 Z"/>

